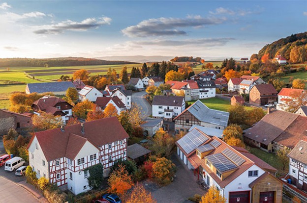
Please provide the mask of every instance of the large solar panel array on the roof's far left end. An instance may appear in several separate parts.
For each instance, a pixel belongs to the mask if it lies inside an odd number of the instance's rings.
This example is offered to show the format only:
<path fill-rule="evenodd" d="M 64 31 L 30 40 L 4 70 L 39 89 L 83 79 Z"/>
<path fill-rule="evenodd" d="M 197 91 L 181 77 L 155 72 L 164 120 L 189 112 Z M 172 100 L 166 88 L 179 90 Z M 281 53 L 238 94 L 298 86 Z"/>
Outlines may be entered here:
<path fill-rule="evenodd" d="M 208 140 L 208 137 L 204 136 L 197 129 L 193 129 L 188 132 L 184 137 L 177 141 L 180 147 L 187 154 L 195 150 L 198 146 L 202 145 L 204 142 Z"/>

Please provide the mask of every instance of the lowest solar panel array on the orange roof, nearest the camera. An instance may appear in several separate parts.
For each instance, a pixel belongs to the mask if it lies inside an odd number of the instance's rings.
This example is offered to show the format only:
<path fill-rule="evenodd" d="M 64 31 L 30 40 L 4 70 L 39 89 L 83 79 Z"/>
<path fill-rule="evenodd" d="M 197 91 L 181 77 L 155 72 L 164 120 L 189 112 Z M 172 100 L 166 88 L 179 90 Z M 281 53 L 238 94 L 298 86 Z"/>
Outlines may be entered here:
<path fill-rule="evenodd" d="M 206 156 L 206 158 L 215 166 L 215 168 L 219 172 L 224 172 L 230 169 L 237 168 L 237 166 L 234 163 L 232 163 L 228 158 L 226 158 L 221 153 L 215 153 L 215 154 Z"/>

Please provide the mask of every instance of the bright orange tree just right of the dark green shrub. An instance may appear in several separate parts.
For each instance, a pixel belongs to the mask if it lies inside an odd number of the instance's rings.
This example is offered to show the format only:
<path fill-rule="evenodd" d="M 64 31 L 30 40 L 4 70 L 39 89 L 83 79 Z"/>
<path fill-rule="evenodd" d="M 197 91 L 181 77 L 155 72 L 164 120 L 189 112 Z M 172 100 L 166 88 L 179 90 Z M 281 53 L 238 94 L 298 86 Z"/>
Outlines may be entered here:
<path fill-rule="evenodd" d="M 123 166 L 120 166 L 110 174 L 108 183 L 110 186 L 108 192 L 120 196 L 123 196 L 134 185 L 131 176 Z"/>

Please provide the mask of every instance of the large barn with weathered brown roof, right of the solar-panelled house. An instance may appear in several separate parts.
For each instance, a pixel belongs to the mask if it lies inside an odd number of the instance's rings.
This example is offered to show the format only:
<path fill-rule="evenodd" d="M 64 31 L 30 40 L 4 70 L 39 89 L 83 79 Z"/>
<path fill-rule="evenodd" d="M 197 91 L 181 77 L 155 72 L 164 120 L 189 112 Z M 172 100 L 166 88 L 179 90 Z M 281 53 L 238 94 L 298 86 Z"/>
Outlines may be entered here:
<path fill-rule="evenodd" d="M 307 117 L 279 110 L 271 110 L 253 127 L 244 130 L 244 140 L 249 145 L 267 152 L 280 148 L 293 149 L 307 136 Z"/>

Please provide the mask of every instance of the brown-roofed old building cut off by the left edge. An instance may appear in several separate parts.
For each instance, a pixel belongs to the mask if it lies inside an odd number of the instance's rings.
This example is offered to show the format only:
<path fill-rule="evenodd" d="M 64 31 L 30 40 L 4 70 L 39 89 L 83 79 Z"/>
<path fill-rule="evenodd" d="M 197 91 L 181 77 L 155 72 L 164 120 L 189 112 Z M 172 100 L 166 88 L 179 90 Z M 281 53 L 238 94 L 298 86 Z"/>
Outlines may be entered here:
<path fill-rule="evenodd" d="M 0 135 L 7 134 L 10 128 L 19 130 L 31 125 L 30 116 L 0 109 Z"/>

